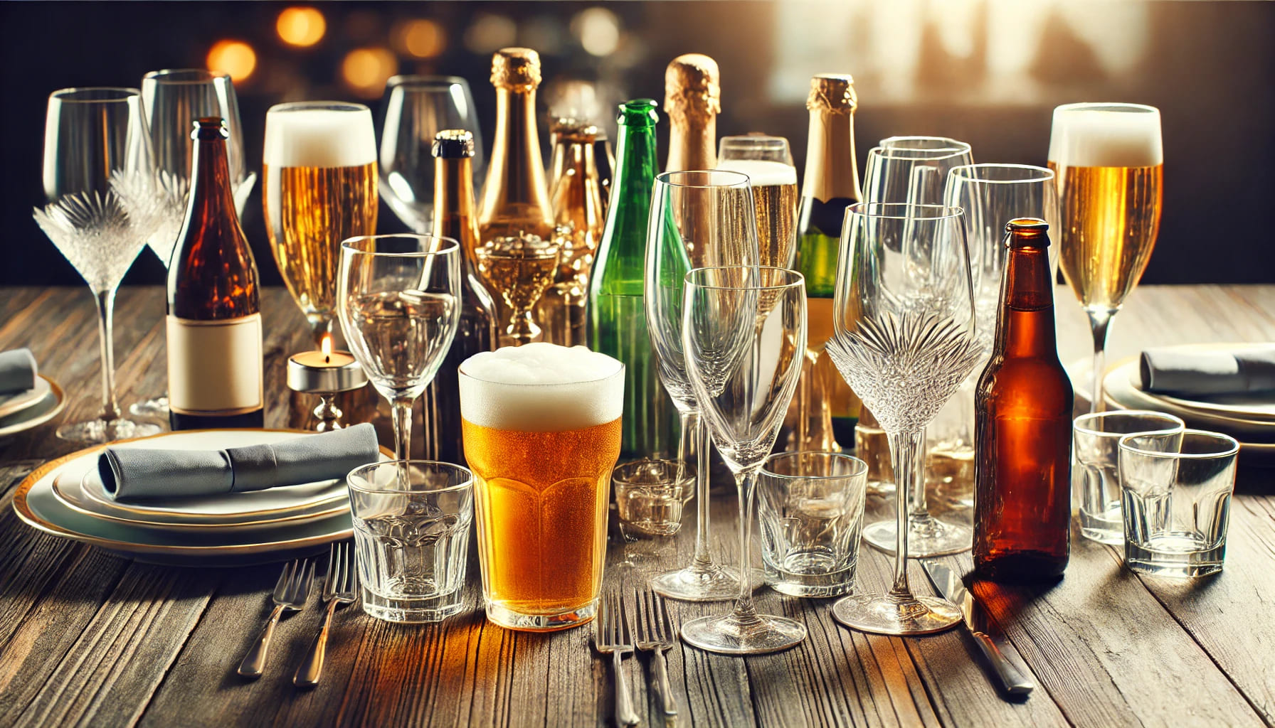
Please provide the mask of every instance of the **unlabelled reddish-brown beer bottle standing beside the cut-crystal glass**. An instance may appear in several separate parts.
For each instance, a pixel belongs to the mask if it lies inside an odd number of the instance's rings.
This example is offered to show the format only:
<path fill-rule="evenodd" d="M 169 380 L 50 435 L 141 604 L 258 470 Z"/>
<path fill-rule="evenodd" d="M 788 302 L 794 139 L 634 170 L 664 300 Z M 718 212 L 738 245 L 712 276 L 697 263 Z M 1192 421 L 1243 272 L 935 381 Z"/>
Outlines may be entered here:
<path fill-rule="evenodd" d="M 1005 229 L 996 343 L 974 404 L 974 567 L 1044 581 L 1062 576 L 1071 546 L 1072 391 L 1054 339 L 1049 226 Z"/>

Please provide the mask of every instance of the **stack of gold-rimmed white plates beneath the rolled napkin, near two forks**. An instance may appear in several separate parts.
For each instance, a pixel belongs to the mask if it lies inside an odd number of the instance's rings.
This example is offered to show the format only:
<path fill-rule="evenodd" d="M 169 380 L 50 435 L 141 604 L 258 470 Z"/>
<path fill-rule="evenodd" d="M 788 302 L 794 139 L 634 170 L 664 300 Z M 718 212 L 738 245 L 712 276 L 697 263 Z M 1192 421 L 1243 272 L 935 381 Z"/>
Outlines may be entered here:
<path fill-rule="evenodd" d="M 289 430 L 166 432 L 112 448 L 221 450 L 288 440 Z M 32 527 L 156 564 L 288 558 L 348 538 L 343 478 L 224 496 L 116 502 L 97 473 L 102 448 L 51 460 L 18 486 L 14 510 Z M 384 455 L 382 455 L 384 456 Z"/>

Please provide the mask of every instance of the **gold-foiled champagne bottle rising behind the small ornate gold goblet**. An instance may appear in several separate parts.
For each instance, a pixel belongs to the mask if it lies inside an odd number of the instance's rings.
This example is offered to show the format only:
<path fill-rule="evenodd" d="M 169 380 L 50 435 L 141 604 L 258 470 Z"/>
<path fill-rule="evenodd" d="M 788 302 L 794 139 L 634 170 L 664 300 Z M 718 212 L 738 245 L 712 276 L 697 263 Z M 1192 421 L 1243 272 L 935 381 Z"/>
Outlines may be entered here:
<path fill-rule="evenodd" d="M 501 48 L 491 59 L 496 87 L 496 135 L 487 181 L 478 205 L 479 244 L 496 238 L 536 236 L 553 238 L 553 207 L 544 182 L 536 89 L 541 84 L 541 57 L 530 48 Z M 509 312 L 496 302 L 500 320 Z M 501 343 L 516 343 L 501 337 Z"/>

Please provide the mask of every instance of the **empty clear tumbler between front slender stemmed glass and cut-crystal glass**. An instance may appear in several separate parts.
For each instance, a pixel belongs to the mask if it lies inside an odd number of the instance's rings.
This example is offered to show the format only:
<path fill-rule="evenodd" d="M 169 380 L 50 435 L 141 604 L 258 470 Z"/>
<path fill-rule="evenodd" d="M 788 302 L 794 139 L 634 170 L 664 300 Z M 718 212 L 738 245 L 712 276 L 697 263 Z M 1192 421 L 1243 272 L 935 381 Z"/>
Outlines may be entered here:
<path fill-rule="evenodd" d="M 771 455 L 757 478 L 766 584 L 790 597 L 854 588 L 868 465 L 840 453 Z"/>

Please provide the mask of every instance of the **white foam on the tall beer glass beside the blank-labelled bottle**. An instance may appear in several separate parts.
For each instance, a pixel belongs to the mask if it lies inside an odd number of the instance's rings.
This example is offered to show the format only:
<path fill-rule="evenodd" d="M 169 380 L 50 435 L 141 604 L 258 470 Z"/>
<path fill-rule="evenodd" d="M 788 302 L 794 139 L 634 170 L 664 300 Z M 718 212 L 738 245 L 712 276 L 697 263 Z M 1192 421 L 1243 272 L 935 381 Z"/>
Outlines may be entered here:
<path fill-rule="evenodd" d="M 270 167 L 360 167 L 376 161 L 372 112 L 360 103 L 280 103 L 265 113 Z"/>

